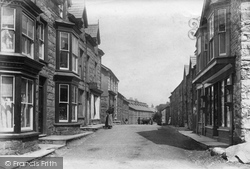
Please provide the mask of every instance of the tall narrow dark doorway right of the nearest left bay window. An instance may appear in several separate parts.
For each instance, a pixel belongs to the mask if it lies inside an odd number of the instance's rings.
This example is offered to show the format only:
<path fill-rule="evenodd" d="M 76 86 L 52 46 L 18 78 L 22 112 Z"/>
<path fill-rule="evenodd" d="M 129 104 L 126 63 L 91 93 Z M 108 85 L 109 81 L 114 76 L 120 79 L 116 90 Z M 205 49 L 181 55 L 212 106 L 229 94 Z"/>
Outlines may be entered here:
<path fill-rule="evenodd" d="M 45 133 L 46 127 L 46 78 L 39 77 L 39 101 L 38 101 L 38 132 Z"/>

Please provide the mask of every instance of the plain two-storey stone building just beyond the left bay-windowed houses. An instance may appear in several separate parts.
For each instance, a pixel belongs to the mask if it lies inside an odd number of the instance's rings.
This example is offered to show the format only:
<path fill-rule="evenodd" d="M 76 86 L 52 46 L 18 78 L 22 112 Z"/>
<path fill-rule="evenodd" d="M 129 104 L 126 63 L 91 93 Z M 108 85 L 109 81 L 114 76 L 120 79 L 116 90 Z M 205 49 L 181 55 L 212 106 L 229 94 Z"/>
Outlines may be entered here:
<path fill-rule="evenodd" d="M 117 94 L 119 80 L 108 67 L 101 67 L 101 87 L 103 93 L 101 95 L 101 122 L 105 123 L 106 111 L 109 108 L 114 108 L 114 120 L 117 119 Z"/>

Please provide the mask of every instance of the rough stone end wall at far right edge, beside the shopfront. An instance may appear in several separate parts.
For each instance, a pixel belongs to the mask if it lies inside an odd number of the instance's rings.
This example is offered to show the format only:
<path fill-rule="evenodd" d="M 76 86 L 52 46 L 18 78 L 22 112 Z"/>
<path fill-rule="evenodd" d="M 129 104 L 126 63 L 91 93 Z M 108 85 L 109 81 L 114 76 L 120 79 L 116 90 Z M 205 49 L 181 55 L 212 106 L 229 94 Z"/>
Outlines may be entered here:
<path fill-rule="evenodd" d="M 250 141 L 250 2 L 231 1 L 231 55 L 236 56 L 234 143 Z"/>

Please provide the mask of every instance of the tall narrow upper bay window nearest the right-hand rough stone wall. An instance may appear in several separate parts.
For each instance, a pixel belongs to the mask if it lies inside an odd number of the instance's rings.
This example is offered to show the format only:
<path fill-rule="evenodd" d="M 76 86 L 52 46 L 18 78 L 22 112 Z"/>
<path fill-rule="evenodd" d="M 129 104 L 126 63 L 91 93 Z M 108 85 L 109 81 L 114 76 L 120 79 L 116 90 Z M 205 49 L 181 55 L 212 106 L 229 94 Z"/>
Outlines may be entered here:
<path fill-rule="evenodd" d="M 226 9 L 218 10 L 219 54 L 226 54 Z"/>

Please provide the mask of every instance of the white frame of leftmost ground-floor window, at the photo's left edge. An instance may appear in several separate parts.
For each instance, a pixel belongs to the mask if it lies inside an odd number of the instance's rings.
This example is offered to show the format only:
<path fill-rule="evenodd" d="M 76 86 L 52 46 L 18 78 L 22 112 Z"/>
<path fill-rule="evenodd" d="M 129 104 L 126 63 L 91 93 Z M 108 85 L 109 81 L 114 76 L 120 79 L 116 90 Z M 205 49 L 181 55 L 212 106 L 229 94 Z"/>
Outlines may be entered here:
<path fill-rule="evenodd" d="M 14 117 L 15 117 L 15 109 L 14 109 L 14 107 L 15 107 L 15 76 L 10 76 L 10 75 L 2 75 L 2 76 L 0 76 L 0 96 L 1 96 L 1 101 L 0 101 L 0 103 L 1 103 L 1 107 L 0 107 L 0 112 L 2 111 L 2 106 L 4 106 L 4 105 L 2 105 L 3 103 L 2 103 L 2 81 L 3 81 L 3 77 L 12 77 L 13 78 L 13 101 L 11 101 L 11 104 L 12 104 L 12 108 L 13 108 L 13 111 L 12 111 L 12 114 L 13 114 L 13 127 L 10 127 L 10 128 L 3 128 L 2 126 L 0 127 L 0 132 L 13 132 L 14 131 L 14 126 L 15 126 L 15 123 L 14 123 Z"/>

